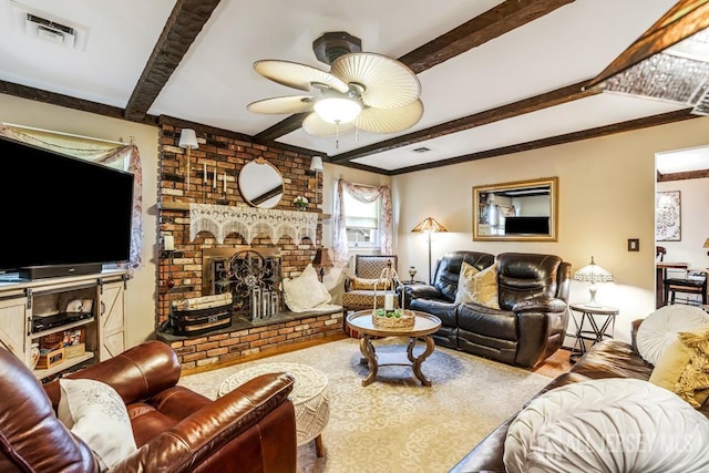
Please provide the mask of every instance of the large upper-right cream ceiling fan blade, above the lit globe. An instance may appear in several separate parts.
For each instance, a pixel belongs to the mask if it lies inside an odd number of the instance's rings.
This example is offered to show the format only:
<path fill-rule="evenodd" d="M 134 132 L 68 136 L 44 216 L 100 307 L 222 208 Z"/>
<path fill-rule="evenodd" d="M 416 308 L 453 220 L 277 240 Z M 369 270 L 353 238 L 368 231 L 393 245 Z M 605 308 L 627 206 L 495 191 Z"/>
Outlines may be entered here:
<path fill-rule="evenodd" d="M 421 95 L 419 78 L 402 62 L 386 55 L 343 54 L 332 62 L 330 72 L 347 83 L 362 84 L 362 102 L 376 109 L 398 109 Z"/>

